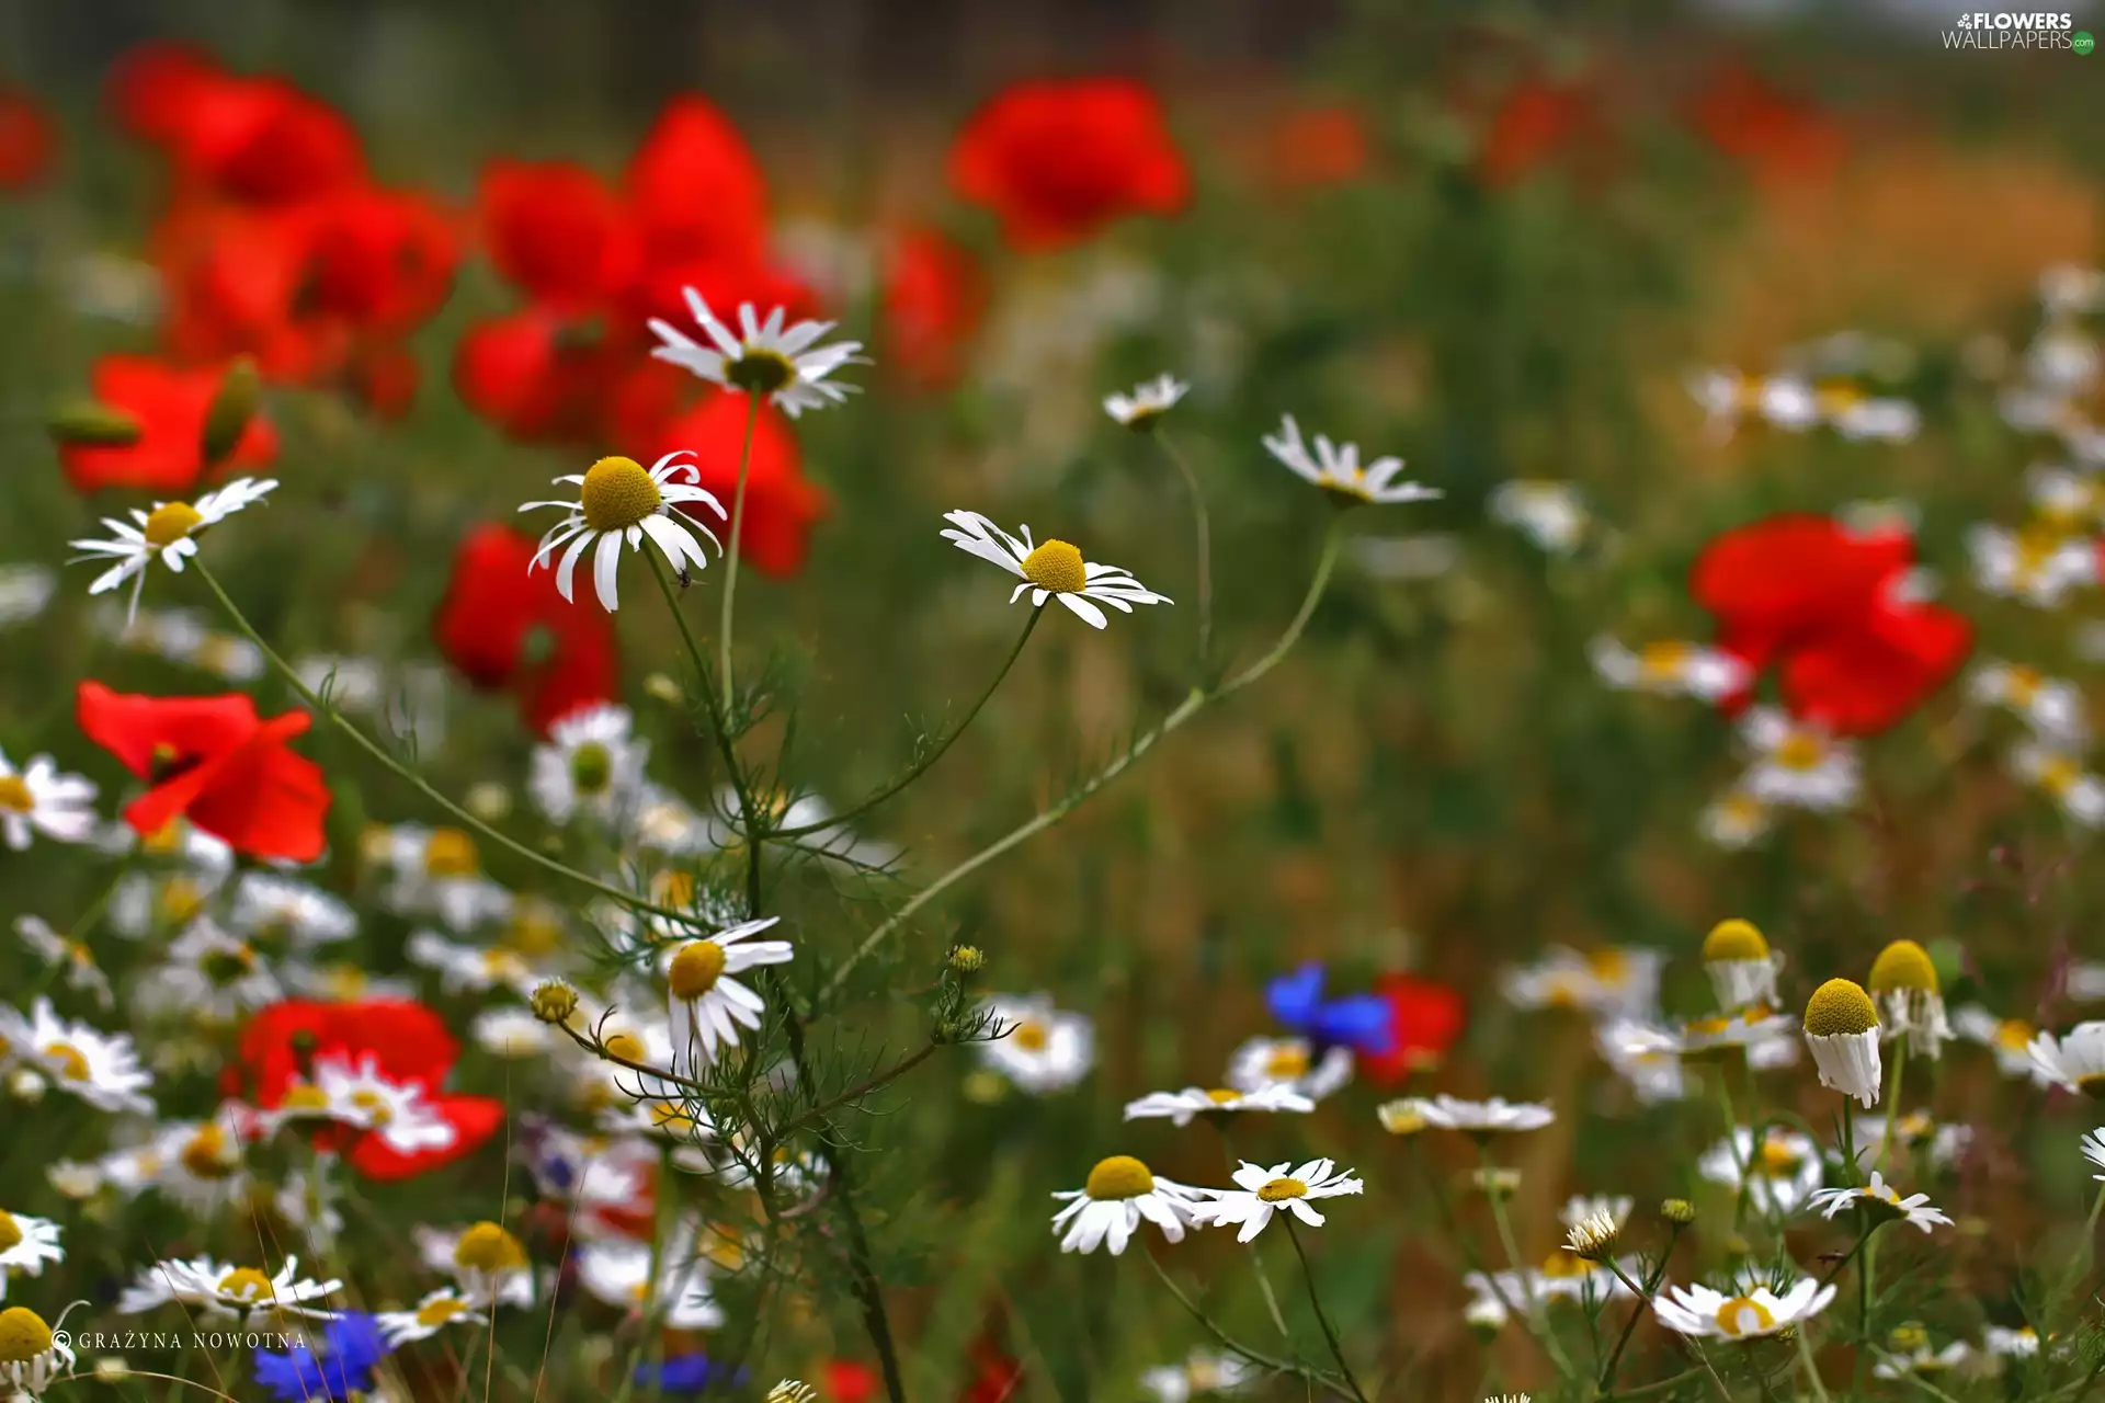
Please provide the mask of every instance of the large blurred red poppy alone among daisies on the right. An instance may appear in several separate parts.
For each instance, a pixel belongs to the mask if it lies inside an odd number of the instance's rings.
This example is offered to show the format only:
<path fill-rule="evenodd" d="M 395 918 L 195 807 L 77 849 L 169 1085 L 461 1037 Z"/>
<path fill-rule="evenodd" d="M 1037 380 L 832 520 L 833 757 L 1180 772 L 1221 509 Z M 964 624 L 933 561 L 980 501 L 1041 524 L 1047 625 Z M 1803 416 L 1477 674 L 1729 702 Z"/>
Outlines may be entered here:
<path fill-rule="evenodd" d="M 1756 673 L 1779 667 L 1793 715 L 1865 736 L 1905 719 L 1972 648 L 1964 616 L 1911 595 L 1913 560 L 1905 530 L 1783 513 L 1711 541 L 1688 585 L 1722 648 Z"/>

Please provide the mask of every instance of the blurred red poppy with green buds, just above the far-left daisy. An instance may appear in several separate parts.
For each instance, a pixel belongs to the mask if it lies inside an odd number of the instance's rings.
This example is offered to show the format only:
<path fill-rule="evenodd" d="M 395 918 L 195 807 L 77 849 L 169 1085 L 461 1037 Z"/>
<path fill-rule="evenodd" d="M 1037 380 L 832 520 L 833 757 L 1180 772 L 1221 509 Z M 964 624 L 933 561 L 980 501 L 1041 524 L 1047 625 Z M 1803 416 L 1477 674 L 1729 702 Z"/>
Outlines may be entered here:
<path fill-rule="evenodd" d="M 145 488 L 179 494 L 196 486 L 204 461 L 204 421 L 225 383 L 225 368 L 179 370 L 145 355 L 95 362 L 95 400 L 139 427 L 131 444 L 59 444 L 65 480 L 80 492 Z M 278 456 L 278 431 L 253 414 L 225 467 L 265 467 Z"/>

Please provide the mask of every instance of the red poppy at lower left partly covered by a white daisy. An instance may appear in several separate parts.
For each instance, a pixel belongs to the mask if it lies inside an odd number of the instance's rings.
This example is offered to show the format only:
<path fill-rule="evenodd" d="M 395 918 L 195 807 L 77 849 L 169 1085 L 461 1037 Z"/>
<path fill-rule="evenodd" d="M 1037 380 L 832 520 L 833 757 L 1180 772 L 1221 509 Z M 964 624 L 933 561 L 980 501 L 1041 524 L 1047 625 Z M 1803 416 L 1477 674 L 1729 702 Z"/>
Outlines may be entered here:
<path fill-rule="evenodd" d="M 309 1109 L 339 1079 L 366 1083 L 364 1096 L 383 1102 L 387 1119 L 318 1115 L 316 1146 L 343 1155 L 366 1178 L 413 1178 L 474 1153 L 503 1125 L 503 1102 L 444 1090 L 459 1052 L 444 1020 L 410 999 L 286 999 L 242 1029 L 232 1094 L 253 1098 L 259 1111 L 282 1111 L 288 1098 Z M 358 1104 L 354 1094 L 343 1111 Z"/>

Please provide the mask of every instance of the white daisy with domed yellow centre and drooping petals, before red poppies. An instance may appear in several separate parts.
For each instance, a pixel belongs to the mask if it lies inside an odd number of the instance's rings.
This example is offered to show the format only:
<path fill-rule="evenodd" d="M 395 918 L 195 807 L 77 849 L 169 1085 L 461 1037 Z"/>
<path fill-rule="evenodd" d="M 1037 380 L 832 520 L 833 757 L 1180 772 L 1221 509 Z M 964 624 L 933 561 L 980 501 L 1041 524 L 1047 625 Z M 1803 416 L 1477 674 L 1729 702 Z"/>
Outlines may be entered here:
<path fill-rule="evenodd" d="M 636 459 L 600 459 L 583 473 L 556 477 L 558 484 L 577 488 L 577 501 L 541 501 L 520 507 L 520 511 L 560 507 L 570 513 L 541 536 L 541 547 L 526 566 L 528 572 L 547 566 L 549 560 L 556 560 L 556 549 L 564 547 L 562 560 L 556 562 L 556 591 L 570 599 L 577 562 L 592 549 L 592 587 L 600 595 L 600 606 L 613 614 L 621 608 L 623 541 L 632 551 L 642 551 L 648 536 L 680 578 L 686 578 L 688 562 L 697 570 L 707 568 L 709 553 L 701 549 L 695 530 L 707 536 L 718 551 L 724 543 L 695 520 L 690 507 L 707 507 L 718 520 L 724 520 L 724 505 L 693 486 L 701 480 L 701 469 L 678 461 L 690 456 L 695 454 L 686 450 L 667 452 L 650 469 L 644 469 Z"/>

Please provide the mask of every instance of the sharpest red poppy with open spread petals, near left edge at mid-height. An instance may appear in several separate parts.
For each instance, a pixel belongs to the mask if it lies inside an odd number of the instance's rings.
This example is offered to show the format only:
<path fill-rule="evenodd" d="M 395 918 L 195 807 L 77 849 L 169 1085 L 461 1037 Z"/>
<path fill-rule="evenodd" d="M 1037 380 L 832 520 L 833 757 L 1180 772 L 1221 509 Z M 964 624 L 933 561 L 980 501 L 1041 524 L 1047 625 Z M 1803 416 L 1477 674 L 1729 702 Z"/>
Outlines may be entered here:
<path fill-rule="evenodd" d="M 78 713 L 88 740 L 152 785 L 124 810 L 139 833 L 185 816 L 253 858 L 322 856 L 328 785 L 320 766 L 286 749 L 307 730 L 305 711 L 265 721 L 242 692 L 135 696 L 82 682 Z"/>

